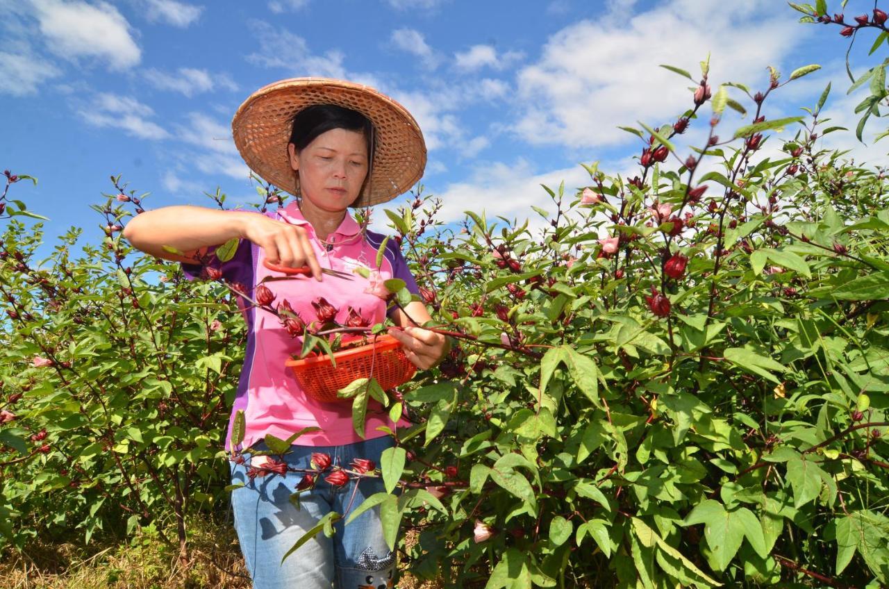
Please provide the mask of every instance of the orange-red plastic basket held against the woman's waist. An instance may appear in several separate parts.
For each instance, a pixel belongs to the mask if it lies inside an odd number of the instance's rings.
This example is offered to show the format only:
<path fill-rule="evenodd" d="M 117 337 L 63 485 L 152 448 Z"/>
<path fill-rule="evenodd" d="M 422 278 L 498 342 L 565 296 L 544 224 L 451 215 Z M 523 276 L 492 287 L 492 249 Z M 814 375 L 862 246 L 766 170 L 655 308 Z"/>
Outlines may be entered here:
<path fill-rule="evenodd" d="M 337 397 L 336 391 L 359 378 L 372 376 L 383 391 L 388 391 L 411 380 L 417 371 L 404 356 L 401 343 L 385 334 L 363 346 L 334 352 L 333 358 L 336 359 L 335 367 L 331 357 L 326 354 L 289 359 L 284 366 L 292 369 L 300 387 L 309 397 L 324 402 L 351 402 L 351 399 Z"/>

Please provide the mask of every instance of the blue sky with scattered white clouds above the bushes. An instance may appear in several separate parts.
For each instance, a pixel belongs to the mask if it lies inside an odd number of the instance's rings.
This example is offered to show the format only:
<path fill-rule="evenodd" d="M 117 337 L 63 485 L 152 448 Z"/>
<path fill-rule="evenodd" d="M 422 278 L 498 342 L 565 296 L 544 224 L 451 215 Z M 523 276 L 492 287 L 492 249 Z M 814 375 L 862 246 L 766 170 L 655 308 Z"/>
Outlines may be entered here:
<path fill-rule="evenodd" d="M 839 1 L 829 7 L 838 12 Z M 0 8 L 0 168 L 39 178 L 14 196 L 51 217 L 50 236 L 96 226 L 88 205 L 116 173 L 151 192 L 151 207 L 209 206 L 202 192 L 216 187 L 232 203 L 255 200 L 229 124 L 253 90 L 284 77 L 343 77 L 401 101 L 425 133 L 422 183 L 444 198 L 445 220 L 468 208 L 533 215 L 529 206 L 548 200 L 541 182 L 565 180 L 572 190 L 588 182 L 581 161 L 629 172 L 640 145 L 617 125 L 661 125 L 691 106 L 691 83 L 659 63 L 697 77 L 710 52 L 714 86 L 755 90 L 765 89 L 768 65 L 786 77 L 821 64 L 773 95 L 769 117 L 800 113 L 832 80 L 827 114 L 853 129 L 863 98 L 845 96 L 839 28 L 798 24 L 777 0 L 0 0 Z M 850 0 L 847 20 L 872 8 Z M 856 44 L 855 71 L 884 57 L 885 47 L 866 57 L 873 38 Z M 724 133 L 740 121 L 726 117 Z M 886 163 L 883 144 L 862 146 L 853 133 L 826 141 Z"/>

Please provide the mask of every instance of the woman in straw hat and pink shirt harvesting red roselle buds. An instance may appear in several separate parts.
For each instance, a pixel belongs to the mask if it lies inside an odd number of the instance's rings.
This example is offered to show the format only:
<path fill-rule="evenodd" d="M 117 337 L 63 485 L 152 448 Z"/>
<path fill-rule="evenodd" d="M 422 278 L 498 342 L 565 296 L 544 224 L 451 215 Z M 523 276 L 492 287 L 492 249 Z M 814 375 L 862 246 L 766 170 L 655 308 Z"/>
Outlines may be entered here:
<path fill-rule="evenodd" d="M 191 277 L 223 278 L 251 297 L 263 278 L 280 276 L 264 262 L 308 266 L 314 279 L 266 283 L 274 296 L 272 306 L 286 302 L 306 322 L 316 318 L 322 299 L 329 305 L 324 309 L 332 308 L 340 323 L 348 313 L 360 314 L 368 324 L 381 322 L 387 311 L 379 285 L 387 278 L 401 278 L 408 289 L 418 292 L 394 242 L 388 242 L 378 265 L 383 237 L 359 226 L 348 214 L 349 206 L 395 198 L 422 175 L 426 162 L 422 134 L 401 105 L 361 85 L 290 79 L 253 93 L 237 110 L 232 129 L 244 161 L 266 181 L 292 193 L 294 202 L 267 214 L 196 206 L 149 211 L 132 219 L 124 230 L 133 246 L 182 262 Z M 220 262 L 212 255 L 214 248 L 233 238 L 240 240 L 236 254 Z M 164 246 L 184 254 L 170 254 Z M 357 267 L 369 268 L 371 278 L 352 273 Z M 322 268 L 346 272 L 353 279 L 327 276 Z M 308 398 L 285 370 L 284 361 L 299 343 L 281 320 L 249 304 L 243 311 L 249 335 L 232 417 L 236 410 L 244 410 L 244 448 L 266 448 L 262 439 L 267 434 L 285 440 L 315 427 L 320 429 L 301 435 L 284 456 L 289 467 L 312 468 L 313 453 L 316 463 L 325 463 L 324 456 L 329 456 L 333 464 L 345 467 L 356 458 L 379 464 L 392 439 L 378 428 L 407 423 L 392 424 L 385 412 L 369 411 L 362 440 L 354 431 L 350 405 Z M 404 311 L 390 312 L 390 318 L 404 327 L 391 335 L 417 367 L 434 366 L 448 351 L 445 337 L 416 327 L 430 319 L 422 303 L 412 302 Z M 235 448 L 227 443 L 227 449 Z M 300 497 L 298 509 L 289 498 L 302 476 L 296 472 L 248 476 L 247 469 L 263 460 L 266 457 L 248 456 L 245 464 L 232 466 L 233 481 L 244 483 L 244 488 L 232 492 L 232 504 L 255 587 L 392 586 L 395 555 L 383 540 L 377 509 L 364 512 L 348 526 L 338 522 L 334 537 L 318 535 L 282 563 L 284 554 L 325 513 L 343 513 L 349 504 L 354 508 L 382 490 L 379 479 L 352 479 L 338 486 L 318 477 L 308 495 Z"/>

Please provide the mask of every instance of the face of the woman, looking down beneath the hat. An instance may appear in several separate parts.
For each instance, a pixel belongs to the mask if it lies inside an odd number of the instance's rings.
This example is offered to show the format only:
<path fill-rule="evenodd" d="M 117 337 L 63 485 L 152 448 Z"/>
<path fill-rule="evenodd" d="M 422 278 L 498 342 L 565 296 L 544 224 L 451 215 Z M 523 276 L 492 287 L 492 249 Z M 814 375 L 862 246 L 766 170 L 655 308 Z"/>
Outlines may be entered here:
<path fill-rule="evenodd" d="M 305 149 L 288 146 L 290 165 L 300 173 L 300 192 L 325 211 L 345 210 L 358 198 L 367 175 L 364 133 L 332 129 L 321 133 Z"/>

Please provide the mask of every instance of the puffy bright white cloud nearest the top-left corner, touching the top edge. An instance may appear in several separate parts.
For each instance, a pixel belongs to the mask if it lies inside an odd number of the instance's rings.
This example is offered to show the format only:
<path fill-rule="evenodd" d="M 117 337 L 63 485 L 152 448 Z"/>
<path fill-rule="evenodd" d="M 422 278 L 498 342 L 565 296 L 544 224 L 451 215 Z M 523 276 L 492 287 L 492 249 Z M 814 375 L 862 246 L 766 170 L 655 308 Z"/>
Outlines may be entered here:
<path fill-rule="evenodd" d="M 30 0 L 40 32 L 50 51 L 64 59 L 92 58 L 115 70 L 132 68 L 141 60 L 130 23 L 106 2 Z"/>

